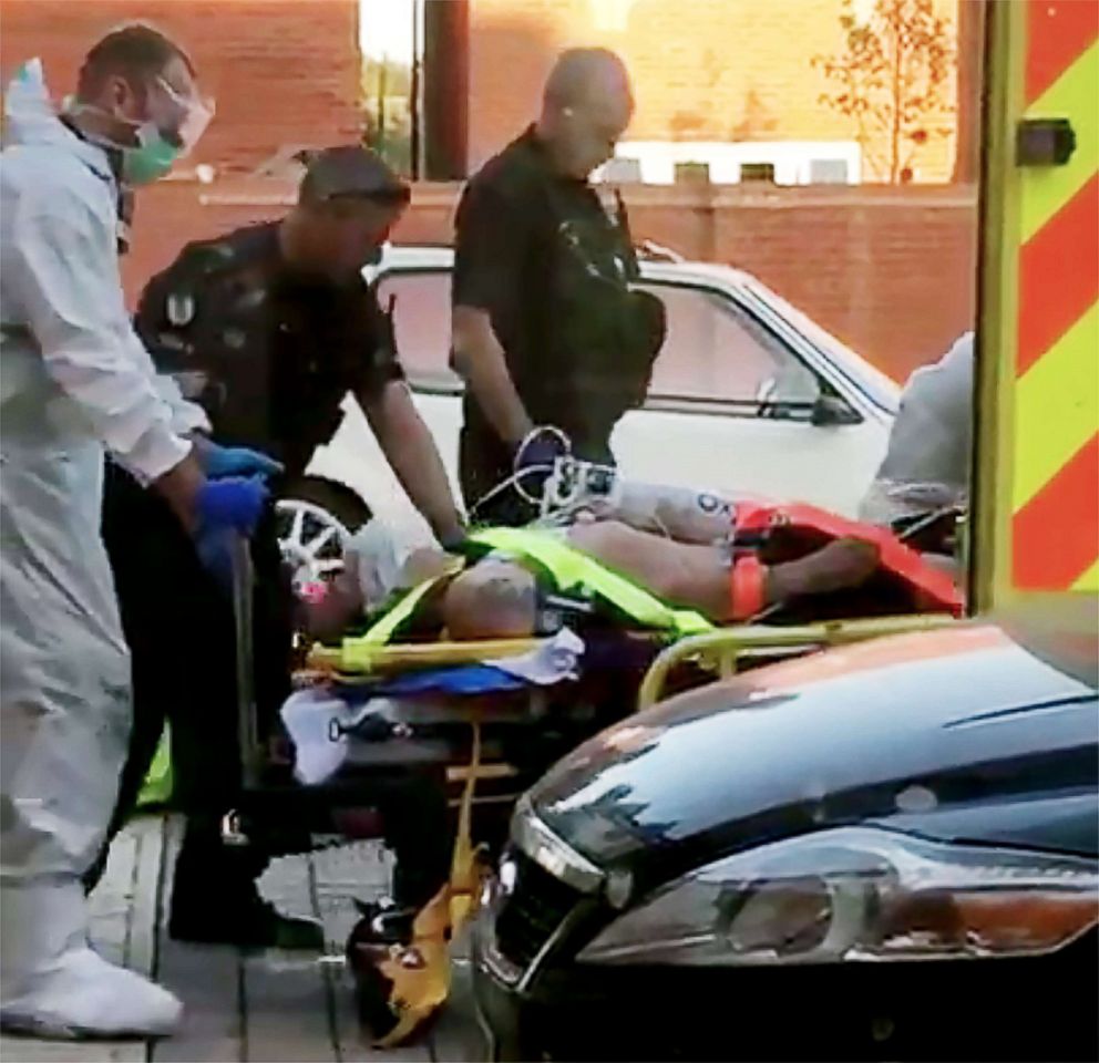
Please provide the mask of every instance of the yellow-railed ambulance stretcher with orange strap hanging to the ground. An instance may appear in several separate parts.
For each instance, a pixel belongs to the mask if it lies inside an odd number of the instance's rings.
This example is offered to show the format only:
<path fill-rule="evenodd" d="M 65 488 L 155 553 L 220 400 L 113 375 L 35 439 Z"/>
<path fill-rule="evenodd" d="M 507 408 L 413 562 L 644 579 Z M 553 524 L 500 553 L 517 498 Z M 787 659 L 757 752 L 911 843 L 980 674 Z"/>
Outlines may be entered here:
<path fill-rule="evenodd" d="M 515 799 L 565 753 L 638 708 L 743 668 L 954 622 L 943 613 L 815 623 L 788 617 L 783 623 L 771 613 L 771 623 L 701 634 L 585 632 L 578 667 L 550 683 L 524 681 L 509 670 L 546 649 L 550 638 L 360 641 L 353 652 L 318 646 L 304 661 L 299 681 L 329 699 L 329 708 L 318 711 L 328 713 L 323 739 L 339 747 L 339 756 L 323 778 L 302 785 L 285 743 L 265 735 L 251 693 L 251 576 L 243 543 L 234 572 L 246 785 L 227 833 L 244 839 L 294 824 L 300 835 L 387 836 L 386 808 L 374 818 L 348 814 L 377 805 L 379 793 L 399 780 L 424 781 L 450 801 L 450 816 L 417 833 L 423 843 L 435 829 L 445 844 L 443 858 L 433 857 L 438 890 L 411 928 L 397 942 L 374 942 L 359 928 L 352 935 L 349 957 L 360 1007 L 376 1031 L 381 1015 L 378 1043 L 386 1046 L 408 1038 L 445 1000 L 446 941 L 475 907 L 475 843 L 502 840 Z M 415 846 L 392 847 L 399 866 L 420 858 Z"/>

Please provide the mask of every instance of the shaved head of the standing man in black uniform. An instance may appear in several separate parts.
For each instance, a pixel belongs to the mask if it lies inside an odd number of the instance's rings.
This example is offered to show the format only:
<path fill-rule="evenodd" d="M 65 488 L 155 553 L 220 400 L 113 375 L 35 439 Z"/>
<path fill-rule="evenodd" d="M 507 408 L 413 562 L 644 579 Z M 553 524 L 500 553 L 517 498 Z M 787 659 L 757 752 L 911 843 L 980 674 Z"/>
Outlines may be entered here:
<path fill-rule="evenodd" d="M 584 179 L 614 155 L 633 114 L 626 64 L 605 48 L 573 48 L 550 72 L 538 136 L 563 174 Z"/>

